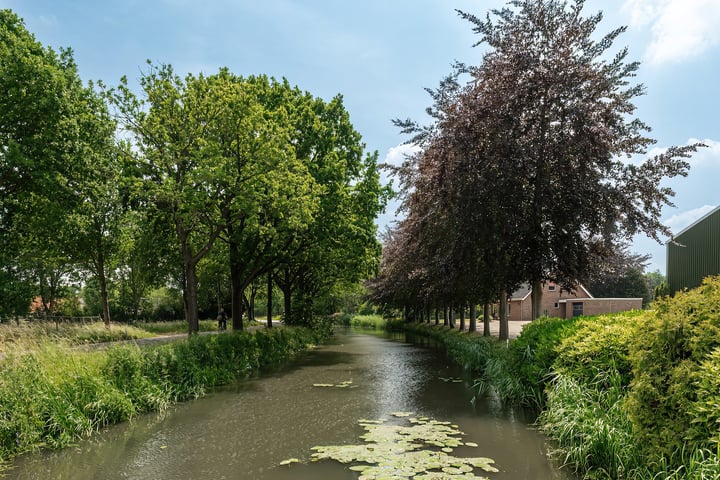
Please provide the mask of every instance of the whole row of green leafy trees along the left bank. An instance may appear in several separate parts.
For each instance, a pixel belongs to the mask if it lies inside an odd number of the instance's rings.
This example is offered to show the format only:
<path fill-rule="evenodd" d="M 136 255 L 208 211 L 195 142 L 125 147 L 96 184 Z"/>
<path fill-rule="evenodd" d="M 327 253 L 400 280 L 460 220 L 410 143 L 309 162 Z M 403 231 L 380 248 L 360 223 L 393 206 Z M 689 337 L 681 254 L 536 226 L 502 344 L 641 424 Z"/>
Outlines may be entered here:
<path fill-rule="evenodd" d="M 109 292 L 137 314 L 170 285 L 191 333 L 199 291 L 228 292 L 242 329 L 260 285 L 298 323 L 374 274 L 388 192 L 341 96 L 150 62 L 139 88 L 86 86 L 9 10 L 0 40 L 0 313 L 52 311 L 74 273 L 108 322 Z"/>

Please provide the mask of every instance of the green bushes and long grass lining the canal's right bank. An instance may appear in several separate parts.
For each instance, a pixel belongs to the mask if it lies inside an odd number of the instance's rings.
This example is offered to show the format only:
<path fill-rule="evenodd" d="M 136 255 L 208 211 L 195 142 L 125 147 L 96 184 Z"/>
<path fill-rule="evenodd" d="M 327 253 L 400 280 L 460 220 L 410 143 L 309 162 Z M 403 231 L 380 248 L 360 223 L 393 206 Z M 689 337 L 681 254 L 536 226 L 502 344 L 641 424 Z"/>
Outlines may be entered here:
<path fill-rule="evenodd" d="M 443 342 L 482 394 L 534 407 L 583 478 L 720 478 L 720 278 L 652 311 L 540 319 L 510 343 L 407 326 Z"/>

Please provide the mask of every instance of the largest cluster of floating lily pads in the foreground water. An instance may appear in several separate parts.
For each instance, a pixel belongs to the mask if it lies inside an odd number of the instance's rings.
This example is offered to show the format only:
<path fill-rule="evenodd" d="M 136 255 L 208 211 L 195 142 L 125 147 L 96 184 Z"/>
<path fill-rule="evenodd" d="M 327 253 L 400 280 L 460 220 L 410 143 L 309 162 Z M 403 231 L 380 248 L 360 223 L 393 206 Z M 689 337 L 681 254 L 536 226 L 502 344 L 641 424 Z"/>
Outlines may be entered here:
<path fill-rule="evenodd" d="M 312 460 L 353 464 L 348 468 L 362 472 L 359 480 L 485 480 L 473 473 L 476 468 L 498 471 L 490 458 L 449 455 L 455 447 L 477 446 L 473 442 L 463 443 L 460 437 L 464 434 L 457 425 L 415 418 L 412 412 L 391 415 L 404 423 L 360 420 L 358 423 L 365 429 L 360 437 L 364 444 L 313 447 Z"/>

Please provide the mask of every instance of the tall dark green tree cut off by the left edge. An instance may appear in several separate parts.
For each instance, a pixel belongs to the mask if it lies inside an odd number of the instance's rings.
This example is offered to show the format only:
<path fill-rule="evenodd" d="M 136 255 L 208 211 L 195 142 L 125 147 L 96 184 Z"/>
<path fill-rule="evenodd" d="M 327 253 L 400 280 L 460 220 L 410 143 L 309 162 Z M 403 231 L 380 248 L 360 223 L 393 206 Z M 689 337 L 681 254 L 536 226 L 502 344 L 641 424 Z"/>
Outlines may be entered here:
<path fill-rule="evenodd" d="M 62 290 L 71 263 L 74 238 L 65 227 L 82 201 L 86 127 L 97 120 L 91 103 L 72 51 L 43 47 L 14 13 L 0 10 L 0 258 L 18 260 L 3 267 L 0 289 L 34 278 L 34 295 L 42 285 L 51 310 L 49 292 Z M 13 310 L 21 311 L 19 301 Z"/>

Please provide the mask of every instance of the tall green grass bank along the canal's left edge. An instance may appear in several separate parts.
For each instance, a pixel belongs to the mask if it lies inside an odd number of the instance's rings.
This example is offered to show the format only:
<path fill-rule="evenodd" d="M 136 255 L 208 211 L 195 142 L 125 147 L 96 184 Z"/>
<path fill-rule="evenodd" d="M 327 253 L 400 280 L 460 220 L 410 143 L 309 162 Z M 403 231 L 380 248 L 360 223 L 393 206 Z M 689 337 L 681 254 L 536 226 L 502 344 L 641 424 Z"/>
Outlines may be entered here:
<path fill-rule="evenodd" d="M 90 352 L 37 341 L 33 349 L 6 353 L 0 361 L 0 464 L 200 397 L 321 343 L 330 330 L 277 328 Z"/>

